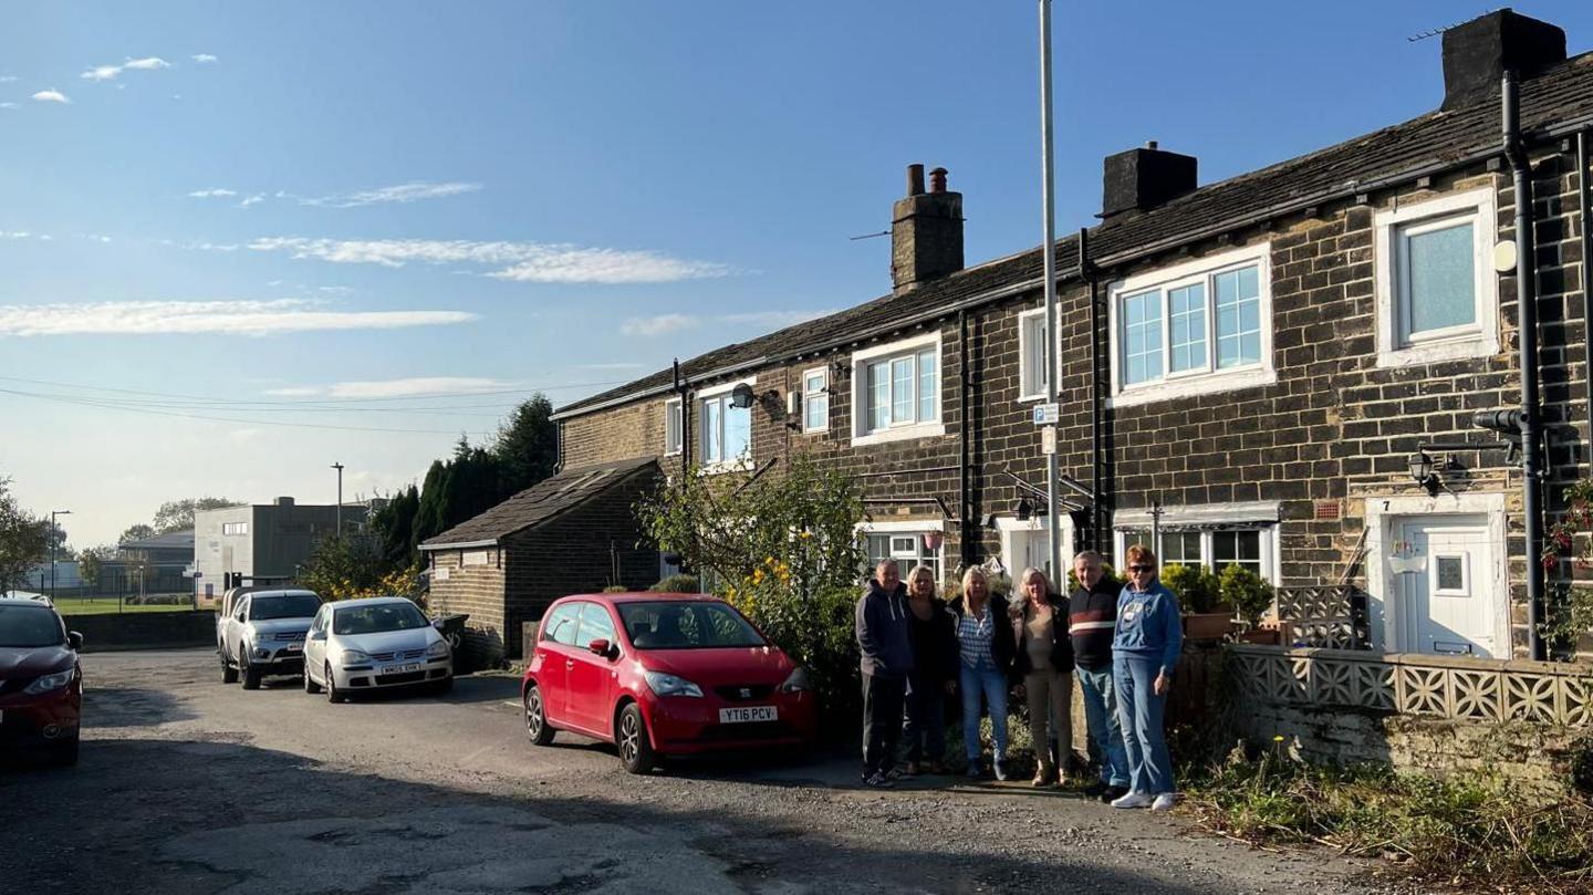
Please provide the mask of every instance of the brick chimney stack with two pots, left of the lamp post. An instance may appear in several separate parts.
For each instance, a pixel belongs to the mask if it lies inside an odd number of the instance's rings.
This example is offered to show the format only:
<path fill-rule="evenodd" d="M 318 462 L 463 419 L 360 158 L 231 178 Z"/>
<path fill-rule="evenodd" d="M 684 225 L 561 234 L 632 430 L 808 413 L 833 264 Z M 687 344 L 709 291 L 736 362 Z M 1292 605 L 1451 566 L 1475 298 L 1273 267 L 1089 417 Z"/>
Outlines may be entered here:
<path fill-rule="evenodd" d="M 962 269 L 962 193 L 946 191 L 946 169 L 906 167 L 906 197 L 890 217 L 890 280 L 897 295 Z"/>

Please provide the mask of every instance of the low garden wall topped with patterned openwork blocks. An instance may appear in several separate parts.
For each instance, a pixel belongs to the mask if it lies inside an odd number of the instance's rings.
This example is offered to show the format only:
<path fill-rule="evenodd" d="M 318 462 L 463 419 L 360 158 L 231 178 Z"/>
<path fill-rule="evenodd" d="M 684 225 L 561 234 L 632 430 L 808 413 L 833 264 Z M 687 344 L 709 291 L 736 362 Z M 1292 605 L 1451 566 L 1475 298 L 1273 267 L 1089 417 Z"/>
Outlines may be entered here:
<path fill-rule="evenodd" d="M 1553 662 L 1228 647 L 1227 698 L 1255 748 L 1450 772 L 1497 769 L 1561 785 L 1593 742 L 1593 675 Z"/>

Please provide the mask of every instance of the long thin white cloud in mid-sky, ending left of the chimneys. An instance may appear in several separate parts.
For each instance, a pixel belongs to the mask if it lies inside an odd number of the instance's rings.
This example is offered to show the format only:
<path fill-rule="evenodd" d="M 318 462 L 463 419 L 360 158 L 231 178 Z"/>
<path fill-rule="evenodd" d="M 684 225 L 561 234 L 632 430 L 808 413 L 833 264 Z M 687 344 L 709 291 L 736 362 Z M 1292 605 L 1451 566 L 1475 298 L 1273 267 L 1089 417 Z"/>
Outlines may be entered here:
<path fill-rule="evenodd" d="M 288 252 L 293 258 L 317 258 L 333 264 L 401 268 L 414 261 L 499 266 L 500 269 L 486 276 L 537 283 L 667 283 L 725 277 L 733 272 L 725 264 L 669 258 L 656 252 L 542 242 L 341 240 L 287 236 L 256 239 L 249 247 L 256 252 Z"/>

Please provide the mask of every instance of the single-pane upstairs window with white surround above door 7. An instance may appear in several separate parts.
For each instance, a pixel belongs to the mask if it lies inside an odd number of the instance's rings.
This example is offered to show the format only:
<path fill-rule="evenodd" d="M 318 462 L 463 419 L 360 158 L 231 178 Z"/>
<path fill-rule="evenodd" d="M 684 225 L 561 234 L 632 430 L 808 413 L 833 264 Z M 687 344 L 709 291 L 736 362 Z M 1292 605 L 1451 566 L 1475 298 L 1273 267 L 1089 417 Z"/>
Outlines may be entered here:
<path fill-rule="evenodd" d="M 1497 354 L 1493 188 L 1386 209 L 1373 228 L 1378 366 Z"/>

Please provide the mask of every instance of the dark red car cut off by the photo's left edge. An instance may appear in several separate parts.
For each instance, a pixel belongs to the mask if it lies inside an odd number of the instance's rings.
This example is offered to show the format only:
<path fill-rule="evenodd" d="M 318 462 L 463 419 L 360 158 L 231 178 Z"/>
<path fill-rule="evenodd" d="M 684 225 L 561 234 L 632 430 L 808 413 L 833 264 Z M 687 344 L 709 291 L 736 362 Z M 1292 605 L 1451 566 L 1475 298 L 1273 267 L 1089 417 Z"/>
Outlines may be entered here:
<path fill-rule="evenodd" d="M 0 597 L 0 748 L 43 748 L 53 764 L 78 763 L 83 635 L 54 607 Z"/>

